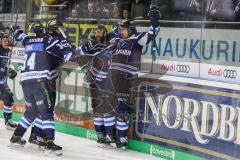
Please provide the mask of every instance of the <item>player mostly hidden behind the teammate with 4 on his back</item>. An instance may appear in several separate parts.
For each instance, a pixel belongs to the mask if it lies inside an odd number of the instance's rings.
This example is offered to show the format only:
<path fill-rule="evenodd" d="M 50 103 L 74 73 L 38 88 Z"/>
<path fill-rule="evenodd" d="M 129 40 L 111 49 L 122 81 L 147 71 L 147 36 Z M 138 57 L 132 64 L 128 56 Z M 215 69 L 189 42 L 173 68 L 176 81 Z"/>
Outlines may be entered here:
<path fill-rule="evenodd" d="M 32 32 L 35 33 L 35 36 L 37 37 L 43 37 L 44 33 L 43 33 L 43 28 L 36 28 L 36 25 L 34 25 L 34 28 L 32 28 Z M 56 101 L 56 80 L 58 78 L 58 68 L 61 67 L 61 65 L 63 64 L 63 59 L 64 59 L 64 53 L 66 53 L 66 51 L 71 51 L 72 46 L 68 43 L 68 41 L 66 40 L 65 34 L 62 30 L 63 24 L 60 21 L 56 21 L 56 20 L 50 20 L 47 23 L 46 26 L 46 34 L 48 36 L 54 37 L 56 39 L 58 39 L 60 41 L 61 46 L 64 48 L 61 53 L 59 54 L 59 56 L 61 56 L 61 58 L 56 58 L 54 56 L 52 56 L 52 65 L 51 65 L 51 70 L 50 70 L 50 75 L 49 75 L 49 86 L 50 86 L 50 90 L 52 92 L 51 94 L 51 99 L 52 99 L 52 108 L 54 109 L 55 107 L 55 101 Z M 32 144 L 36 144 L 39 146 L 44 146 L 45 141 L 44 141 L 44 133 L 42 131 L 42 120 L 39 118 L 36 118 L 34 121 L 34 127 L 32 128 L 31 131 L 31 136 L 29 138 L 29 142 Z"/>

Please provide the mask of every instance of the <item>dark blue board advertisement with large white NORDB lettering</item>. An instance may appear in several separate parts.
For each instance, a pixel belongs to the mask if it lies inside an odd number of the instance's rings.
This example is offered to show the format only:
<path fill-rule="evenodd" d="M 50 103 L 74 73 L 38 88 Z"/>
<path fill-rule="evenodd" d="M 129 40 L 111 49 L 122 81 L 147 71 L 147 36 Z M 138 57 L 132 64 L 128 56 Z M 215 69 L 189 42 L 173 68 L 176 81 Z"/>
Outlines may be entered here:
<path fill-rule="evenodd" d="M 208 159 L 240 158 L 240 90 L 176 81 L 139 90 L 135 138 Z"/>

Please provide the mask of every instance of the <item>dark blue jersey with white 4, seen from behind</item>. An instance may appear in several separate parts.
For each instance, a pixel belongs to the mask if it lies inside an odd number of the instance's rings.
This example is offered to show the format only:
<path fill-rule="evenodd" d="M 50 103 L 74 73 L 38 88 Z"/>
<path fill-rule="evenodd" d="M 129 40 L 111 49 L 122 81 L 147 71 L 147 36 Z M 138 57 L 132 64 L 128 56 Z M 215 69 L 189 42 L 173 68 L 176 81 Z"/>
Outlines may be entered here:
<path fill-rule="evenodd" d="M 31 37 L 24 33 L 16 36 L 25 48 L 24 65 L 21 69 L 21 82 L 46 81 L 52 78 L 55 61 L 66 58 L 71 52 L 66 52 L 61 40 L 52 36 Z M 64 53 L 64 54 L 63 54 Z"/>

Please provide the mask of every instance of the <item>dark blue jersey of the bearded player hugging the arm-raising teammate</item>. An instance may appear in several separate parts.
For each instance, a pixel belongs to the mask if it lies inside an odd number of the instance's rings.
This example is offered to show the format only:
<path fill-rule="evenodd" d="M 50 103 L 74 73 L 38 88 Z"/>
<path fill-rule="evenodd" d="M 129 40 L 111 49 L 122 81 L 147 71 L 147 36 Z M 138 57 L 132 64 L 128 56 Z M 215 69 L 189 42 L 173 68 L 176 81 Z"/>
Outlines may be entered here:
<path fill-rule="evenodd" d="M 83 70 L 87 70 L 86 74 L 90 74 L 99 89 L 112 92 L 109 73 L 112 48 L 109 47 L 109 39 L 111 36 L 108 36 L 105 43 L 90 39 L 78 47 L 78 54 L 80 54 L 78 63 Z"/>

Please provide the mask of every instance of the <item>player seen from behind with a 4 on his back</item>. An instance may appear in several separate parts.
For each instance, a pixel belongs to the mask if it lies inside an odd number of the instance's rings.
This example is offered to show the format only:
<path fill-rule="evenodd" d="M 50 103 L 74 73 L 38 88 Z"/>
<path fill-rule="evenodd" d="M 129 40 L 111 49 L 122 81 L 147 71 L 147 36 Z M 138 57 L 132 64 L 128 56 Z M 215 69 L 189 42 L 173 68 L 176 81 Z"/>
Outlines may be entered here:
<path fill-rule="evenodd" d="M 55 122 L 52 105 L 52 91 L 49 86 L 49 78 L 52 69 L 52 57 L 62 59 L 61 41 L 52 37 L 29 37 L 18 26 L 11 26 L 16 40 L 22 41 L 25 48 L 24 65 L 21 69 L 20 80 L 23 88 L 26 111 L 20 119 L 10 142 L 25 145 L 22 138 L 35 118 L 41 120 L 43 134 L 45 136 L 46 152 L 56 151 L 61 154 L 62 147 L 54 143 Z M 65 52 L 67 58 L 72 53 Z M 64 59 L 67 61 L 68 59 Z M 63 59 L 62 59 L 63 60 Z"/>

